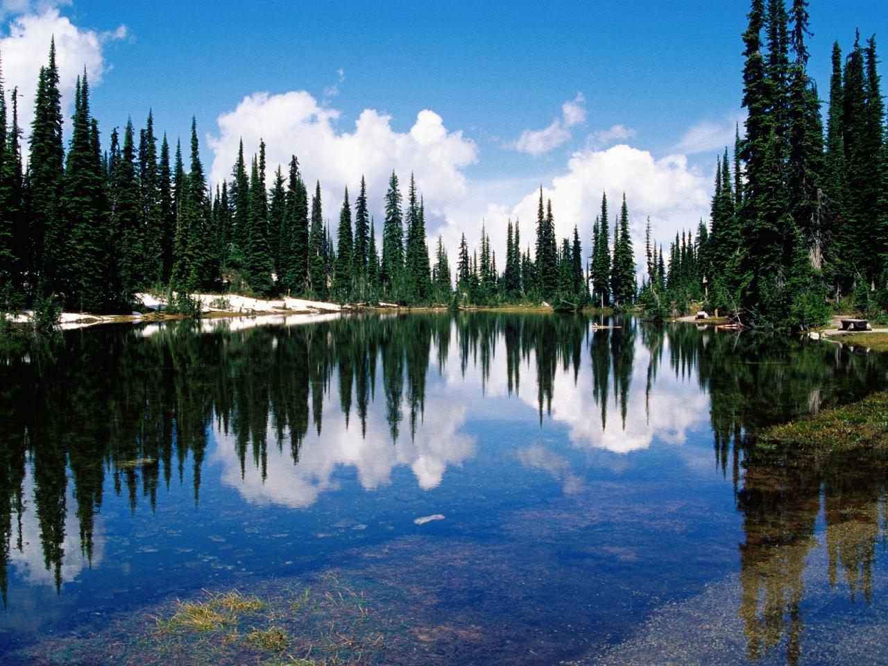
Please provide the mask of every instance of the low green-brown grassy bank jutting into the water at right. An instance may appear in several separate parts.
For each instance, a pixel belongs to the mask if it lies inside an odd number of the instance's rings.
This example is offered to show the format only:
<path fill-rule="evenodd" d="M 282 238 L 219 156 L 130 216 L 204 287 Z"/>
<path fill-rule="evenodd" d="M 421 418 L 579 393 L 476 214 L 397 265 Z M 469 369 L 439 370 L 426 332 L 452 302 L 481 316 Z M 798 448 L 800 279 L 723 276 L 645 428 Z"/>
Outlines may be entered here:
<path fill-rule="evenodd" d="M 868 397 L 816 416 L 774 425 L 758 433 L 762 445 L 789 444 L 831 451 L 888 449 L 888 392 Z"/>

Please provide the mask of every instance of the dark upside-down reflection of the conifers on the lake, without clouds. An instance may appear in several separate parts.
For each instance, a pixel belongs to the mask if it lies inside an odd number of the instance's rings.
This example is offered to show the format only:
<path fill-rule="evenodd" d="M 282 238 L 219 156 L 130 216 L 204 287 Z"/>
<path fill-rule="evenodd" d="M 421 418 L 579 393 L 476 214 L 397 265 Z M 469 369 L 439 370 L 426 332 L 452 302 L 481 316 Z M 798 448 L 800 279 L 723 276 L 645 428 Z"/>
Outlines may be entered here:
<path fill-rule="evenodd" d="M 826 526 L 829 583 L 845 585 L 855 602 L 872 601 L 873 563 L 885 539 L 888 466 L 875 455 L 762 450 L 752 445 L 749 432 L 862 397 L 884 382 L 886 362 L 833 345 L 629 319 L 597 322 L 619 328 L 596 328 L 583 316 L 441 313 L 240 330 L 224 322 L 210 331 L 186 322 L 104 327 L 5 341 L 4 601 L 7 569 L 12 553 L 23 548 L 22 516 L 32 502 L 25 490 L 28 475 L 44 567 L 60 589 L 69 513 L 89 563 L 107 480 L 117 495 L 129 497 L 132 511 L 139 502 L 154 509 L 163 501 L 158 497 L 163 488 L 174 479 L 183 482 L 188 465 L 199 503 L 214 428 L 234 442 L 242 479 L 255 470 L 265 480 L 268 447 L 287 452 L 298 467 L 306 436 L 310 430 L 320 435 L 331 401 L 338 402 L 353 436 L 368 436 L 378 400 L 389 440 L 414 440 L 424 424 L 427 379 L 445 369 L 477 373 L 484 391 L 492 382 L 504 383 L 510 395 L 522 390 L 521 374 L 527 373 L 535 383 L 540 423 L 552 415 L 556 391 L 571 390 L 564 377 L 574 389 L 591 381 L 594 405 L 583 404 L 588 412 L 583 416 L 594 412 L 596 427 L 607 429 L 610 420 L 622 432 L 635 422 L 659 427 L 654 386 L 671 373 L 698 383 L 708 396 L 715 463 L 733 479 L 745 534 L 740 596 L 749 659 L 781 648 L 790 663 L 797 662 L 805 627 L 805 562 L 820 545 L 818 520 Z M 497 353 L 503 354 L 499 364 Z M 491 377 L 503 370 L 505 377 Z M 642 403 L 630 400 L 641 392 L 644 414 L 634 408 Z M 532 453 L 525 454 L 527 460 Z M 440 478 L 440 470 L 435 473 Z"/>

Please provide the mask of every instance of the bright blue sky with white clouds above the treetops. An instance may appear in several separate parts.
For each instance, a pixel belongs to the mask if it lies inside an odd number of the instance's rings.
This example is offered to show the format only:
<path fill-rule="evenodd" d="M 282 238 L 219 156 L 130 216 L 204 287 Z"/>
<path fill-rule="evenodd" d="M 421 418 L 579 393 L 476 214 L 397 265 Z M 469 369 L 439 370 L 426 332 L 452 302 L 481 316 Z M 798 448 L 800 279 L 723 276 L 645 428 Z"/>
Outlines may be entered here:
<path fill-rule="evenodd" d="M 888 12 L 884 0 L 810 4 L 809 71 L 825 97 L 833 42 L 847 51 L 856 28 L 888 34 Z M 640 258 L 647 218 L 668 243 L 708 216 L 716 157 L 743 120 L 748 11 L 748 0 L 0 0 L 0 57 L 26 127 L 54 35 L 67 116 L 85 68 L 106 141 L 151 109 L 155 129 L 187 146 L 194 115 L 218 183 L 241 139 L 248 153 L 264 139 L 269 182 L 296 154 L 334 230 L 345 187 L 353 199 L 364 175 L 380 234 L 395 170 L 405 193 L 416 175 L 430 247 L 441 234 L 451 263 L 482 222 L 500 266 L 508 219 L 532 242 L 540 187 L 559 237 L 577 226 L 586 250 L 602 192 L 612 216 L 625 193 Z"/>

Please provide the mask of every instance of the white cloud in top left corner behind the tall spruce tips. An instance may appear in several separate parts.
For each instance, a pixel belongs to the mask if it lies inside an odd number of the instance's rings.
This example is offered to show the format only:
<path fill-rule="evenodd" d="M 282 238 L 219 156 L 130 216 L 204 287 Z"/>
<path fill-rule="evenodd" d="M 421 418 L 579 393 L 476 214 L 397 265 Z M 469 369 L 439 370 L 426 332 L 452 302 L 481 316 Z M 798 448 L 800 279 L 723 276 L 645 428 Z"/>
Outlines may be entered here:
<path fill-rule="evenodd" d="M 48 62 L 53 36 L 59 67 L 59 90 L 65 115 L 68 116 L 77 76 L 82 75 L 85 68 L 91 86 L 101 83 L 102 75 L 108 70 L 103 48 L 109 41 L 125 38 L 127 29 L 122 25 L 99 33 L 78 28 L 49 3 L 4 2 L 2 6 L 4 12 L 17 12 L 7 27 L 7 35 L 0 39 L 0 54 L 3 57 L 6 90 L 12 91 L 13 87 L 19 89 L 19 124 L 28 136 L 34 113 L 37 75 L 40 67 Z"/>

